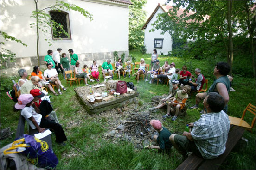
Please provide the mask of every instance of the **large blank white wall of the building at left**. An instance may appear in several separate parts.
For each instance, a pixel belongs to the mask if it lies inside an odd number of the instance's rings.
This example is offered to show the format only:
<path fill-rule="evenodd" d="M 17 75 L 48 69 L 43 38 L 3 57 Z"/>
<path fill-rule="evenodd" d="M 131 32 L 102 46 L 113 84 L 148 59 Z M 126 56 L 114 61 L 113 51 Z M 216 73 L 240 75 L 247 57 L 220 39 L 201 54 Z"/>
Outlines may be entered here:
<path fill-rule="evenodd" d="M 52 41 L 52 46 L 44 40 L 40 33 L 39 55 L 47 55 L 47 50 L 62 48 L 68 53 L 73 49 L 76 54 L 128 51 L 129 13 L 127 5 L 116 5 L 103 1 L 70 0 L 69 3 L 83 7 L 93 15 L 93 21 L 83 17 L 79 12 L 66 11 L 70 17 L 71 40 Z M 102 3 L 108 3 L 102 4 Z M 38 9 L 43 9 L 55 1 L 38 1 Z M 30 28 L 35 18 L 30 18 L 35 10 L 34 1 L 2 1 L 1 0 L 1 31 L 8 33 L 26 43 L 25 47 L 16 42 L 7 42 L 6 49 L 16 53 L 17 57 L 36 56 L 36 29 Z M 50 29 L 48 30 L 50 31 Z M 51 37 L 51 34 L 49 34 Z M 2 42 L 2 38 L 1 38 Z"/>

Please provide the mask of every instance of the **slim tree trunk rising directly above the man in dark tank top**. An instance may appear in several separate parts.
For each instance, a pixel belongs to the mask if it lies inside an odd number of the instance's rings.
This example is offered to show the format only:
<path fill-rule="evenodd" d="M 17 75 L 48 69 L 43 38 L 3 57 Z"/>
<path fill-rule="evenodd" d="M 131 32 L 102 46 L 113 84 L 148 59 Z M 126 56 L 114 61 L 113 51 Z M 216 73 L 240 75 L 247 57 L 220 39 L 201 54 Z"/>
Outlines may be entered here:
<path fill-rule="evenodd" d="M 230 75 L 232 76 L 232 67 L 233 67 L 233 31 L 231 25 L 231 16 L 232 16 L 232 5 L 233 1 L 228 0 L 228 13 L 227 13 L 227 21 L 228 21 L 228 31 L 229 31 L 229 54 L 228 54 L 228 63 L 230 64 Z"/>

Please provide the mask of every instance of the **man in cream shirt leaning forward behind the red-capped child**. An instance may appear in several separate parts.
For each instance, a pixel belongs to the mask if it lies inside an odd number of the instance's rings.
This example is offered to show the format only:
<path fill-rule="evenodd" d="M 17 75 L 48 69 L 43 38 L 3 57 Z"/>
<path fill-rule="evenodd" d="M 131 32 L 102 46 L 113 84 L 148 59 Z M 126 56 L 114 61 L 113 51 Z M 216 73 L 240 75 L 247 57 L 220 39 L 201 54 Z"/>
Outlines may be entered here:
<path fill-rule="evenodd" d="M 21 86 L 20 94 L 29 94 L 32 89 L 38 89 L 40 81 L 41 79 L 38 76 L 32 76 L 30 80 Z"/>

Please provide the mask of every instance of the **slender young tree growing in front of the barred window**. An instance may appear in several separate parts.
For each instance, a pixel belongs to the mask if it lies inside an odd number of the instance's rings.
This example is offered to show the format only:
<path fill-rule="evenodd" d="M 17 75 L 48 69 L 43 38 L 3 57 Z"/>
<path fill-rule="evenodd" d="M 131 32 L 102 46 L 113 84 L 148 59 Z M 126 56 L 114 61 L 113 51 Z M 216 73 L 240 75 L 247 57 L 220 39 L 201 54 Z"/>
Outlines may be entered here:
<path fill-rule="evenodd" d="M 61 11 L 61 9 L 64 9 L 67 11 L 73 10 L 73 11 L 80 12 L 81 14 L 83 14 L 84 17 L 89 18 L 90 21 L 92 21 L 93 18 L 92 18 L 92 15 L 88 11 L 84 10 L 83 8 L 81 8 L 77 5 L 74 5 L 74 4 L 65 3 L 63 1 L 56 1 L 55 5 L 46 7 L 42 10 L 38 9 L 38 0 L 34 0 L 34 2 L 35 2 L 35 6 L 36 6 L 36 11 L 32 12 L 31 17 L 36 18 L 36 23 L 32 23 L 30 25 L 31 25 L 31 27 L 36 26 L 36 28 L 37 28 L 37 57 L 38 57 L 38 66 L 39 66 L 39 52 L 38 52 L 39 30 L 41 30 L 44 33 L 45 37 L 47 37 L 46 34 L 50 33 L 50 31 L 48 31 L 48 29 L 51 27 L 52 27 L 52 30 L 53 30 L 52 32 L 54 35 L 58 36 L 60 34 L 64 34 L 64 35 L 69 36 L 69 34 L 63 29 L 63 25 L 52 20 L 51 16 L 45 12 L 46 9 L 51 9 L 51 10 L 55 10 L 55 11 Z M 48 41 L 49 46 L 52 45 L 51 38 L 50 39 L 45 38 L 45 41 Z"/>

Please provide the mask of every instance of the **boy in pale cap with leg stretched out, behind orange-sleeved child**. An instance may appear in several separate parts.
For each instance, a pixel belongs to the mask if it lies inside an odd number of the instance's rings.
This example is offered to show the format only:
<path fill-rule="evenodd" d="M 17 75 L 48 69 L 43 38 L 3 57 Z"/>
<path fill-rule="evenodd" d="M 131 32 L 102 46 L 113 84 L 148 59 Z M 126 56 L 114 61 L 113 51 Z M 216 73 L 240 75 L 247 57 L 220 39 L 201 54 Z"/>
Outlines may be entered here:
<path fill-rule="evenodd" d="M 174 96 L 176 95 L 177 91 L 179 91 L 179 81 L 174 79 L 172 82 L 171 82 L 173 88 L 172 88 L 172 91 L 169 91 L 169 96 L 166 97 L 166 98 L 163 98 L 161 99 L 161 101 L 159 102 L 159 104 L 156 106 L 156 107 L 153 107 L 153 108 L 149 108 L 149 111 L 153 111 L 155 109 L 159 109 L 163 106 L 165 106 L 169 101 L 167 100 L 173 100 Z"/>

